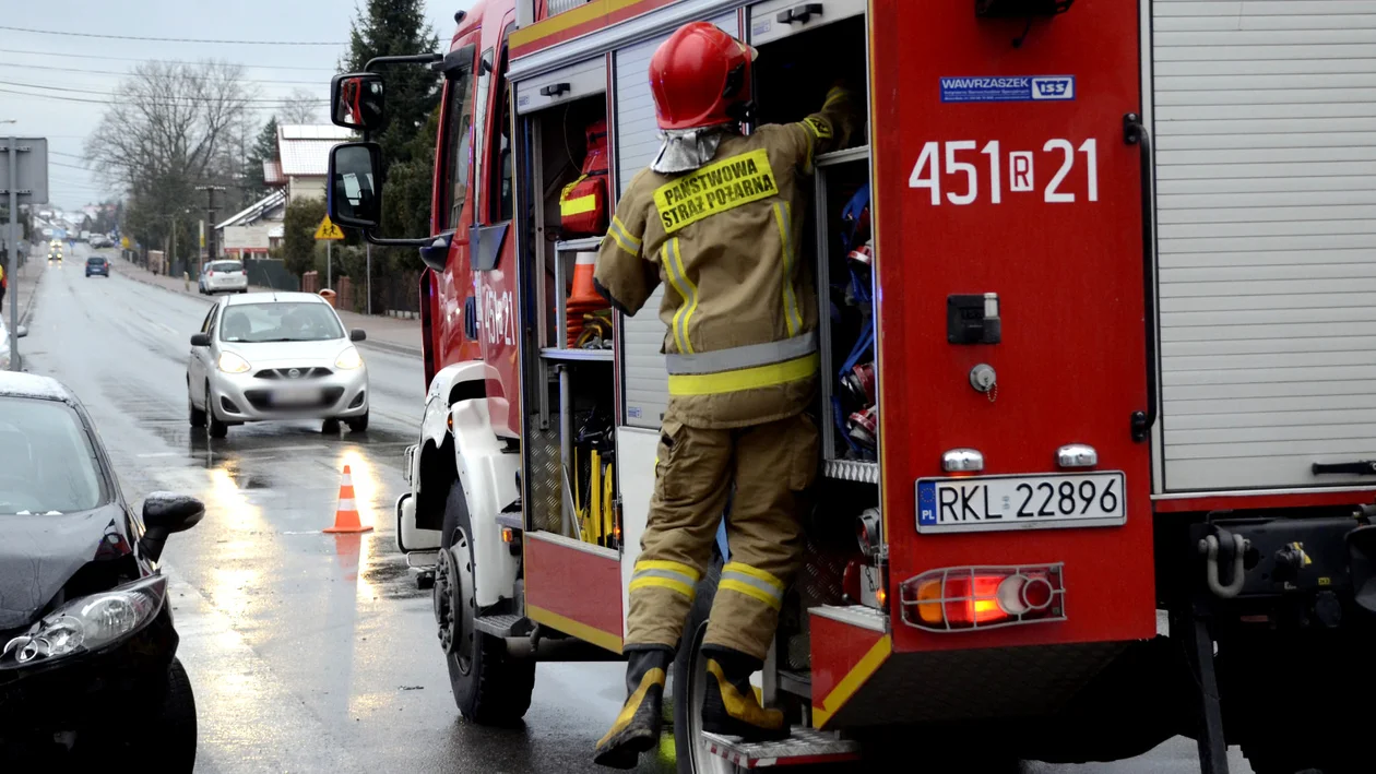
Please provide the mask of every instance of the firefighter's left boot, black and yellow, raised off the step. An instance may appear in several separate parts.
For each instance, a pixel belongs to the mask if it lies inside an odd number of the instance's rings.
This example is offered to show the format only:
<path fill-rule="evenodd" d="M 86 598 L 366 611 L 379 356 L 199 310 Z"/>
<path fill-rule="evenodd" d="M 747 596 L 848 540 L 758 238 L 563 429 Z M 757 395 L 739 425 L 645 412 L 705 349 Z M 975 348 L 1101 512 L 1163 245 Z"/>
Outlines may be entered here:
<path fill-rule="evenodd" d="M 659 730 L 665 722 L 665 676 L 673 660 L 673 649 L 665 646 L 627 652 L 626 692 L 630 697 L 611 730 L 597 742 L 593 763 L 634 769 L 640 753 L 659 745 Z"/>

